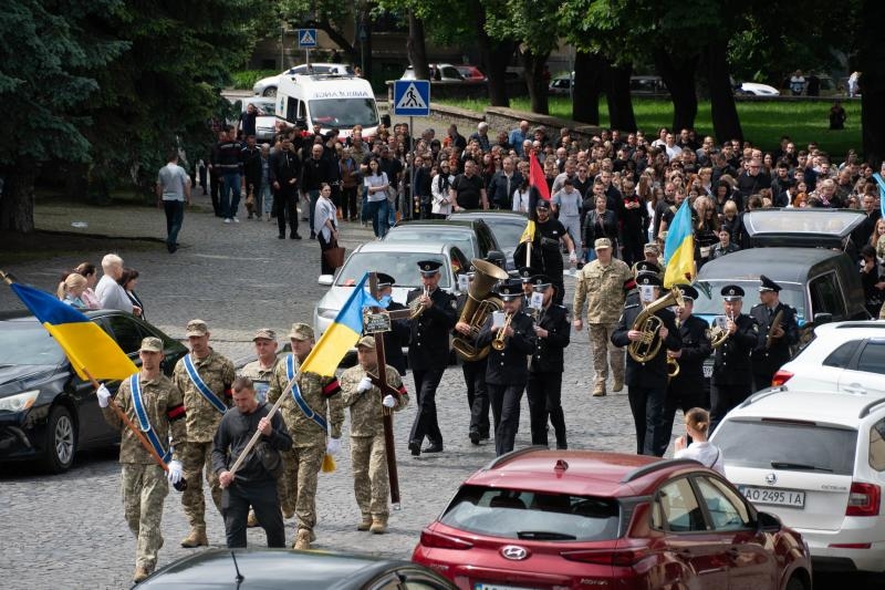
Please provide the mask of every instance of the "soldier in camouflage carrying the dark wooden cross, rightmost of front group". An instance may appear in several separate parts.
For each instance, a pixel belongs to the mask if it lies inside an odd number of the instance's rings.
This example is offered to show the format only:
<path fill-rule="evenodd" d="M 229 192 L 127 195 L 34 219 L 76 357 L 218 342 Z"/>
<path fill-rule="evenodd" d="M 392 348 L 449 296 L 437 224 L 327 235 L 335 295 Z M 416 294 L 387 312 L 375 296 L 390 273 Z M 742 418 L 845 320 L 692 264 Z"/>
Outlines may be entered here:
<path fill-rule="evenodd" d="M 353 491 L 362 513 L 356 529 L 381 534 L 387 530 L 387 497 L 391 494 L 384 412 L 389 412 L 388 408 L 399 412 L 406 407 L 408 394 L 399 373 L 391 365 L 386 365 L 387 384 L 399 392 L 398 396 L 382 396 L 381 390 L 372 383 L 368 372 L 378 376 L 378 356 L 373 337 L 360 339 L 356 355 L 358 364 L 341 375 L 341 405 L 351 408 Z"/>

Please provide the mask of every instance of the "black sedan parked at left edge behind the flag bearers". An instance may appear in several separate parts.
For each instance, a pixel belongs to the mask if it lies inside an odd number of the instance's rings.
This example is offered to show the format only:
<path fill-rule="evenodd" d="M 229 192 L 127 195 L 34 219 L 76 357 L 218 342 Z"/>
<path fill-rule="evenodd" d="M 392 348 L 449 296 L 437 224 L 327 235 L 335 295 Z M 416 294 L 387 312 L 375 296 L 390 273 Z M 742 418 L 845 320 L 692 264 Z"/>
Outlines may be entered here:
<path fill-rule="evenodd" d="M 145 337 L 163 340 L 167 375 L 187 353 L 180 342 L 129 313 L 98 310 L 86 315 L 136 364 Z M 107 383 L 112 392 L 118 385 Z M 104 421 L 92 385 L 76 376 L 37 319 L 23 311 L 0 313 L 0 462 L 39 460 L 48 472 L 62 473 L 77 451 L 118 438 Z"/>

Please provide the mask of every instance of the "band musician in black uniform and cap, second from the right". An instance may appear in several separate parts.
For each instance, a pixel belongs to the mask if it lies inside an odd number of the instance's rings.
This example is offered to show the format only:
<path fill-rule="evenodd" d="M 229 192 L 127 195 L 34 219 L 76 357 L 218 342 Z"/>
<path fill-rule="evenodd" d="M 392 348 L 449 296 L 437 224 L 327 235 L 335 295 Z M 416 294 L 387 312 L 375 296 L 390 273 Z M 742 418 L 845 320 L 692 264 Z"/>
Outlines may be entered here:
<path fill-rule="evenodd" d="M 750 353 L 759 339 L 759 324 L 740 312 L 743 289 L 737 284 L 722 287 L 728 338 L 716 349 L 710 382 L 710 432 L 726 414 L 743 402 L 752 392 L 753 372 Z"/>

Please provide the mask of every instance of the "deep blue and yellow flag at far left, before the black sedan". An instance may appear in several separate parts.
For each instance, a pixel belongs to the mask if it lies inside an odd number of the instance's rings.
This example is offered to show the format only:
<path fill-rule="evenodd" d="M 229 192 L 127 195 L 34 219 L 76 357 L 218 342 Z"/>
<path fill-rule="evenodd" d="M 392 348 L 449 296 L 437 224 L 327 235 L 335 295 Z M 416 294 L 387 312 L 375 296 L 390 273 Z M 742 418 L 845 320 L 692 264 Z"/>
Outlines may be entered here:
<path fill-rule="evenodd" d="M 59 343 L 80 379 L 124 380 L 138 371 L 119 345 L 83 312 L 33 287 L 12 290 Z"/>

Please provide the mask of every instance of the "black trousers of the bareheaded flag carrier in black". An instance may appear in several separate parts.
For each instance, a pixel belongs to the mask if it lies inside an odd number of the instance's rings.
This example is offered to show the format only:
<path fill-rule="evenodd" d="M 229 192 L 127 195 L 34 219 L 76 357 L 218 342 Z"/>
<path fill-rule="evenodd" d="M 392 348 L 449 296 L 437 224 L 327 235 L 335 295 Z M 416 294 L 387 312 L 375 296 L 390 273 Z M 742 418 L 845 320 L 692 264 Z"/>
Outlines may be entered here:
<path fill-rule="evenodd" d="M 285 547 L 283 515 L 280 511 L 274 479 L 252 484 L 235 483 L 223 489 L 221 516 L 225 517 L 228 547 L 246 547 L 249 506 L 254 509 L 258 524 L 268 536 L 268 547 Z"/>

